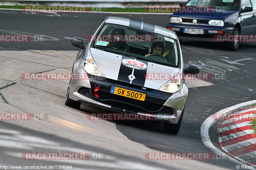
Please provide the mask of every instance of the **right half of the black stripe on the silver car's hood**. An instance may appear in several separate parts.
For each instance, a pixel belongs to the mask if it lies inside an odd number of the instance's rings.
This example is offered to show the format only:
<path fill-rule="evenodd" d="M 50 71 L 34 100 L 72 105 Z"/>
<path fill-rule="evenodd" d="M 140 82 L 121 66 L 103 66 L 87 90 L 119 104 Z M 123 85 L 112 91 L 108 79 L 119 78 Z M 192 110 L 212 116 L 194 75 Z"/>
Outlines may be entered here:
<path fill-rule="evenodd" d="M 147 61 L 143 61 L 143 60 L 139 60 L 136 58 L 136 60 L 146 64 L 148 66 L 148 62 Z M 147 74 L 147 69 L 145 70 L 138 70 L 138 69 L 134 69 L 133 75 L 135 76 L 135 79 L 132 81 L 133 85 L 140 85 L 142 87 L 144 87 L 145 85 L 145 80 L 146 80 L 146 74 Z"/>

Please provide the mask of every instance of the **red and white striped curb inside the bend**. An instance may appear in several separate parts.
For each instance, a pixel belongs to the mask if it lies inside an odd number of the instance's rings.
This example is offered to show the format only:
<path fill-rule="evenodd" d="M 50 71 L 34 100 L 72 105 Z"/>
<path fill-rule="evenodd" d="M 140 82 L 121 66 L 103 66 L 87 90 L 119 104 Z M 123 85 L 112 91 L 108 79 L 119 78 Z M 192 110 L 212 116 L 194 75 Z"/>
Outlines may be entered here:
<path fill-rule="evenodd" d="M 226 118 L 220 125 L 220 147 L 229 155 L 244 163 L 256 164 L 256 135 L 249 124 L 254 118 L 256 107 L 234 112 L 233 119 Z"/>

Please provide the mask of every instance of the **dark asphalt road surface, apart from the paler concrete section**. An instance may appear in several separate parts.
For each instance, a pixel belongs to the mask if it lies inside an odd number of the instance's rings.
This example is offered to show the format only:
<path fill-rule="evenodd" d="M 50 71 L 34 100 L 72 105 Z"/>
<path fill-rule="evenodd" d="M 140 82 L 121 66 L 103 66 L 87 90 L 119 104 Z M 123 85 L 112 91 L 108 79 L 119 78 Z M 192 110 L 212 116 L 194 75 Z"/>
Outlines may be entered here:
<path fill-rule="evenodd" d="M 50 36 L 51 39 L 36 42 L 1 42 L 0 50 L 78 50 L 71 45 L 67 37 L 86 38 L 93 34 L 109 15 L 141 19 L 141 15 L 135 14 L 26 14 L 21 11 L 0 11 L 0 34 L 16 31 L 17 34 L 40 34 Z M 143 21 L 163 27 L 167 25 L 168 20 L 168 15 L 143 16 Z M 255 100 L 255 47 L 255 42 L 241 43 L 239 50 L 234 52 L 226 50 L 223 43 L 182 41 L 181 49 L 186 66 L 195 64 L 201 73 L 222 74 L 224 78 L 214 77 L 215 79 L 208 80 L 214 84 L 212 86 L 189 88 L 185 115 L 178 135 L 162 132 L 162 124 L 156 122 L 120 121 L 116 123 L 116 128 L 128 139 L 161 152 L 212 153 L 202 142 L 200 126 L 207 117 L 223 108 Z M 220 122 L 215 123 L 210 129 L 212 142 L 217 148 L 220 148 L 217 142 L 219 124 Z M 226 159 L 201 162 L 230 169 L 236 169 L 237 165 Z"/>

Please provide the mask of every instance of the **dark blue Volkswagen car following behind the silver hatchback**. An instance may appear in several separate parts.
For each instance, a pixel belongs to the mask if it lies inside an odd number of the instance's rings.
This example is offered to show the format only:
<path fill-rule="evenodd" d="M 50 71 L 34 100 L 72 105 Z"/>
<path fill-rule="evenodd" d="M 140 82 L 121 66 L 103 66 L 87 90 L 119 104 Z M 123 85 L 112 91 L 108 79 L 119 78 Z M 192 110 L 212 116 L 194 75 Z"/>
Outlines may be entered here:
<path fill-rule="evenodd" d="M 167 28 L 180 40 L 212 41 L 214 35 L 255 35 L 256 0 L 190 0 L 181 7 L 208 6 L 209 12 L 174 12 Z M 236 51 L 239 41 L 226 42 Z"/>

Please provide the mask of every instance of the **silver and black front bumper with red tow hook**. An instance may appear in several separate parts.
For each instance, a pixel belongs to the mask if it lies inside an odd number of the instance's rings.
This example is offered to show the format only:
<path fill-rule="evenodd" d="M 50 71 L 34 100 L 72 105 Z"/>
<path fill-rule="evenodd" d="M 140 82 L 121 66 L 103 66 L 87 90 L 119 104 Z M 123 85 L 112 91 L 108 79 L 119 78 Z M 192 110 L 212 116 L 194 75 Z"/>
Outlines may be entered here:
<path fill-rule="evenodd" d="M 78 68 L 73 73 L 86 73 L 83 68 Z M 69 98 L 86 104 L 101 107 L 118 113 L 136 113 L 154 117 L 155 120 L 169 123 L 178 123 L 184 108 L 188 88 L 185 83 L 176 93 L 166 93 L 154 89 L 143 90 L 140 86 L 125 84 L 116 80 L 96 77 L 88 74 L 86 80 L 71 80 Z M 95 85 L 99 86 L 98 95 L 94 95 Z M 130 99 L 110 93 L 111 86 L 130 89 L 146 93 L 145 101 Z"/>

